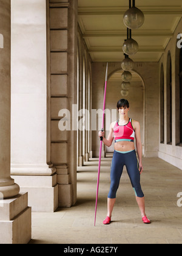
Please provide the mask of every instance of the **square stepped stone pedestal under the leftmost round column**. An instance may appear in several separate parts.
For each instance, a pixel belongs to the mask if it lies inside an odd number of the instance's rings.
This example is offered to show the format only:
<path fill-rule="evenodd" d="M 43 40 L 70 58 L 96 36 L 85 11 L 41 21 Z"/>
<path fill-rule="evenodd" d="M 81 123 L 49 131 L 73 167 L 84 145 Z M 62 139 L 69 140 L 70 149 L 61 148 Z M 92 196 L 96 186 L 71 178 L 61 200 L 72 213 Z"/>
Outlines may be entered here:
<path fill-rule="evenodd" d="M 0 244 L 27 244 L 32 238 L 28 194 L 0 200 Z"/>

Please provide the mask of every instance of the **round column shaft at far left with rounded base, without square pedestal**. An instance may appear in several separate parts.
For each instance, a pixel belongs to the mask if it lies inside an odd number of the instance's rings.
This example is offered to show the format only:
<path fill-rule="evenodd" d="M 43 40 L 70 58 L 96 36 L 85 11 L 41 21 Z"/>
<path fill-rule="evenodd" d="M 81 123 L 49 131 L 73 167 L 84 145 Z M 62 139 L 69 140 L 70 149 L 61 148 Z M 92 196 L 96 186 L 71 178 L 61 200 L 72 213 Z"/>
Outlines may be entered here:
<path fill-rule="evenodd" d="M 19 186 L 10 177 L 10 0 L 0 1 L 0 32 L 4 37 L 4 48 L 0 50 L 0 196 L 16 196 Z"/>

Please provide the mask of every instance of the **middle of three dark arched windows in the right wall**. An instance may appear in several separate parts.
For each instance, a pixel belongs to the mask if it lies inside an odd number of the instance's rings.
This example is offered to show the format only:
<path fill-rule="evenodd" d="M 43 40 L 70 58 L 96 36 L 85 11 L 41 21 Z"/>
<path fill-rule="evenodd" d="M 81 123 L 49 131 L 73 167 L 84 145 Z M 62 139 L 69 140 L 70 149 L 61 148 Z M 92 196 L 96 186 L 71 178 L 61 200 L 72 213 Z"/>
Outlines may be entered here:
<path fill-rule="evenodd" d="M 166 67 L 166 110 L 167 110 L 167 144 L 172 144 L 172 62 L 170 51 L 167 54 Z"/>

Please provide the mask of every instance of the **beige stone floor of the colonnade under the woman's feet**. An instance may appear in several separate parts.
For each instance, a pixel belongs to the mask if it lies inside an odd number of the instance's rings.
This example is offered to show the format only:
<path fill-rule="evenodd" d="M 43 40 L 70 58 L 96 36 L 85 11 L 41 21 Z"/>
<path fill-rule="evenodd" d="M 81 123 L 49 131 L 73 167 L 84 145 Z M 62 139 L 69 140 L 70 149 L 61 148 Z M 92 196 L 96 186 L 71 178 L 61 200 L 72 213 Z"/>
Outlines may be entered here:
<path fill-rule="evenodd" d="M 104 226 L 110 162 L 101 163 L 99 198 L 94 227 L 98 159 L 78 168 L 78 201 L 72 208 L 55 213 L 32 213 L 30 244 L 181 244 L 182 207 L 177 197 L 182 192 L 182 171 L 159 158 L 144 158 L 141 185 L 146 197 L 146 213 L 151 224 L 141 221 L 135 194 L 124 168 L 117 193 L 112 222 Z M 182 200 L 178 201 L 182 203 Z"/>

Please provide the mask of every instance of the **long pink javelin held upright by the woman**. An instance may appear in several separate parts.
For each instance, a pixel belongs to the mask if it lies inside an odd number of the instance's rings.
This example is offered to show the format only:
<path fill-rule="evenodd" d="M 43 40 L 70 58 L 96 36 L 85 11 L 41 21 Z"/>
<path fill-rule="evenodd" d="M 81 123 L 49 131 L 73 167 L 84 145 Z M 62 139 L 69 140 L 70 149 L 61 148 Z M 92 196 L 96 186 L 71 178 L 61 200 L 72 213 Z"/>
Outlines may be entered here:
<path fill-rule="evenodd" d="M 105 114 L 105 106 L 106 106 L 106 89 L 107 89 L 107 71 L 108 71 L 108 63 L 107 63 L 107 67 L 106 67 L 106 80 L 105 80 L 104 103 L 103 103 L 103 121 L 102 121 L 102 128 L 101 128 L 101 131 L 104 131 L 104 114 Z M 101 169 L 102 146 L 103 146 L 103 137 L 100 138 L 99 164 L 98 164 L 98 179 L 97 179 L 96 202 L 95 202 L 95 221 L 96 221 L 96 209 L 97 209 L 97 201 L 98 201 L 99 177 L 100 177 L 100 169 Z M 95 221 L 94 221 L 94 226 L 95 226 Z"/>

